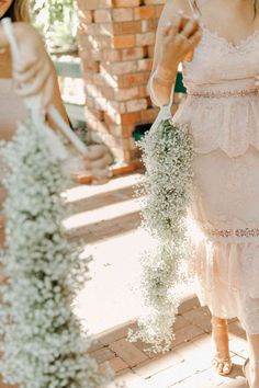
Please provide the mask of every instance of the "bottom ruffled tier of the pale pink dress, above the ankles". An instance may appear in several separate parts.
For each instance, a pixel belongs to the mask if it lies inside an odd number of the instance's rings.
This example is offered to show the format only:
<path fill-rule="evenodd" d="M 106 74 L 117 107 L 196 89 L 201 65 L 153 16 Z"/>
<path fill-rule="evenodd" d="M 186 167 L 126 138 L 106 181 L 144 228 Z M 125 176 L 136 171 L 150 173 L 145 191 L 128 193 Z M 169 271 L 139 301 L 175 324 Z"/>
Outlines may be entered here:
<path fill-rule="evenodd" d="M 192 241 L 189 275 L 202 306 L 219 318 L 238 317 L 246 331 L 259 333 L 259 239 L 219 242 L 204 237 Z"/>

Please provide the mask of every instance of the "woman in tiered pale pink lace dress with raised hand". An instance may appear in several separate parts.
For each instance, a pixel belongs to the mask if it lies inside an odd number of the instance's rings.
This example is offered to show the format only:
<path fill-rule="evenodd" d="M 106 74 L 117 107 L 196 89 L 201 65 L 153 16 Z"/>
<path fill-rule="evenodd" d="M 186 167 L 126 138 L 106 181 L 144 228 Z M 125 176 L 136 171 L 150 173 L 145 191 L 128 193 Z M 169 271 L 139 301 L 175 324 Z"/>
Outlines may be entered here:
<path fill-rule="evenodd" d="M 154 102 L 169 102 L 179 62 L 188 98 L 174 121 L 189 124 L 196 152 L 191 267 L 213 316 L 214 364 L 230 373 L 227 319 L 238 317 L 249 346 L 245 373 L 259 388 L 259 2 L 168 0 Z"/>

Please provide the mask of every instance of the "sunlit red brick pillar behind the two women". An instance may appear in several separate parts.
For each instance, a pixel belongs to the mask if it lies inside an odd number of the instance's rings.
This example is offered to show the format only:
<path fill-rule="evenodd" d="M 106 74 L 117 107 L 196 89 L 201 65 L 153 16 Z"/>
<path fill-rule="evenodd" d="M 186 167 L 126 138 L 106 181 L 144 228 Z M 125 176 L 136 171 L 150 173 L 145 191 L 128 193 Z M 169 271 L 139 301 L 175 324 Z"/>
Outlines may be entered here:
<path fill-rule="evenodd" d="M 135 126 L 153 123 L 158 113 L 146 85 L 166 0 L 77 1 L 87 124 L 93 139 L 130 163 L 136 157 Z"/>

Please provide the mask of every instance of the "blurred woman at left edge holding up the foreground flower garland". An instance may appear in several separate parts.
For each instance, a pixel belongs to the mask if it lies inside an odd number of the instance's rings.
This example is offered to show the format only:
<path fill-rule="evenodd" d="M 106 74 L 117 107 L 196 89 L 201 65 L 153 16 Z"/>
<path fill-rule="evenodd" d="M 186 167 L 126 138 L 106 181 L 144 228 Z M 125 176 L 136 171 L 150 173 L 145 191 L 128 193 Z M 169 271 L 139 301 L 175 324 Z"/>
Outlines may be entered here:
<path fill-rule="evenodd" d="M 5 16 L 14 22 L 13 31 L 21 53 L 21 61 L 12 64 L 8 39 L 0 25 L 0 140 L 12 138 L 16 122 L 25 118 L 27 114 L 23 98 L 35 95 L 37 92 L 43 94 L 43 109 L 48 104 L 54 104 L 64 119 L 68 119 L 54 65 L 40 35 L 27 23 L 30 20 L 29 1 L 0 0 L 0 20 Z M 55 129 L 54 123 L 49 124 Z M 90 146 L 82 168 L 92 174 L 98 172 L 98 174 L 105 175 L 105 169 L 110 163 L 111 156 L 105 147 Z M 5 197 L 1 186 L 3 175 L 4 166 L 0 159 L 0 246 L 3 240 L 1 207 Z"/>

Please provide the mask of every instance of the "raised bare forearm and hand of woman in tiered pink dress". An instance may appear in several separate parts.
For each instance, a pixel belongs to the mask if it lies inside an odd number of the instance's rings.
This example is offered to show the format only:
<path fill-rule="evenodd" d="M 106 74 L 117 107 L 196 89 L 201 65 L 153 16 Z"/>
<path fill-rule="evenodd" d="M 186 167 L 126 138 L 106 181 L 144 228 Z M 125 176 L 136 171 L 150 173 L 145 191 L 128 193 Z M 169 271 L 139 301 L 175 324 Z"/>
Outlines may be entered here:
<path fill-rule="evenodd" d="M 168 0 L 162 10 L 156 36 L 151 77 L 148 82 L 153 102 L 157 105 L 169 103 L 178 66 L 200 42 L 201 32 L 198 21 L 191 16 L 187 0 Z"/>

